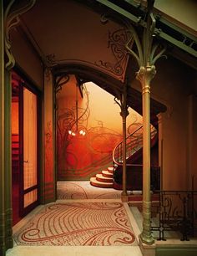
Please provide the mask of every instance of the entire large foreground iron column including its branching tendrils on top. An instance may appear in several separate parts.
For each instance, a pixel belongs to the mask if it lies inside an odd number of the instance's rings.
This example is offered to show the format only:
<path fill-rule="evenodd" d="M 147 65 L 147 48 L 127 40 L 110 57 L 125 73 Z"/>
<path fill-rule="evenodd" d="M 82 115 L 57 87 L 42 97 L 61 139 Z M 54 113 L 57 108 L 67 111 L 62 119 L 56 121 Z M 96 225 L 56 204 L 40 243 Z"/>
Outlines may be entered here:
<path fill-rule="evenodd" d="M 143 102 L 143 232 L 141 240 L 144 243 L 154 243 L 151 235 L 150 226 L 150 81 L 156 73 L 154 64 L 163 56 L 166 47 L 158 43 L 154 44 L 155 23 L 153 13 L 154 0 L 147 0 L 147 15 L 145 18 L 143 38 L 140 39 L 138 32 L 131 23 L 127 24 L 132 36 L 129 38 L 125 48 L 128 53 L 136 59 L 139 64 L 139 72 L 136 79 L 139 79 L 142 85 L 142 102 Z M 133 49 L 134 41 L 136 49 Z"/>

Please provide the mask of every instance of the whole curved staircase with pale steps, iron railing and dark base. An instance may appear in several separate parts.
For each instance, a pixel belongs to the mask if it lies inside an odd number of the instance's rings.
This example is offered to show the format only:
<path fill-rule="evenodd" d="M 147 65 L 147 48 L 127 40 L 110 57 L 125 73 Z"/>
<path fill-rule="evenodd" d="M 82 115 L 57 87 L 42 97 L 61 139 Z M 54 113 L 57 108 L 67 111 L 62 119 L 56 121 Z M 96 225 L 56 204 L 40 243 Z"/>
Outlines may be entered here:
<path fill-rule="evenodd" d="M 151 125 L 150 142 L 151 147 L 156 143 L 158 136 L 157 130 Z M 134 164 L 134 161 L 139 159 L 142 155 L 143 146 L 143 125 L 140 125 L 132 134 L 126 138 L 126 161 L 127 161 L 127 189 L 139 190 L 142 188 L 142 164 Z M 113 187 L 115 189 L 122 189 L 122 175 L 123 175 L 123 141 L 115 146 L 113 151 L 114 167 L 108 167 L 107 170 L 96 174 L 95 177 L 90 178 L 90 184 L 94 187 Z M 151 180 L 159 180 L 158 167 L 151 167 Z M 131 171 L 131 172 L 130 172 Z M 155 182 L 155 181 L 154 181 Z M 152 183 L 152 182 L 151 182 Z M 157 184 L 158 182 L 155 182 Z M 154 186 L 155 187 L 155 186 Z"/>

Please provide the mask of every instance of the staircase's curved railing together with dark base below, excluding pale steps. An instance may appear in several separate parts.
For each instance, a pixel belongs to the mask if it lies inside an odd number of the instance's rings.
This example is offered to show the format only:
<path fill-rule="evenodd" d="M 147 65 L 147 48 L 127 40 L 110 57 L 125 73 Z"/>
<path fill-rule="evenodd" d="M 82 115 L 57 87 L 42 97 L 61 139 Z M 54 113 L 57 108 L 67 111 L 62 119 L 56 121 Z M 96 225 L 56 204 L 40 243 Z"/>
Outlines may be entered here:
<path fill-rule="evenodd" d="M 157 141 L 157 130 L 153 125 L 150 126 L 151 147 Z M 122 155 L 123 141 L 121 141 L 113 152 L 114 161 L 114 188 L 122 189 L 123 177 L 123 155 Z M 133 133 L 126 138 L 126 166 L 127 166 L 127 189 L 128 190 L 142 190 L 142 173 L 143 165 L 134 164 L 134 161 L 142 154 L 143 148 L 143 125 L 139 126 Z M 151 166 L 151 189 L 159 189 L 160 183 L 160 169 L 159 166 Z"/>

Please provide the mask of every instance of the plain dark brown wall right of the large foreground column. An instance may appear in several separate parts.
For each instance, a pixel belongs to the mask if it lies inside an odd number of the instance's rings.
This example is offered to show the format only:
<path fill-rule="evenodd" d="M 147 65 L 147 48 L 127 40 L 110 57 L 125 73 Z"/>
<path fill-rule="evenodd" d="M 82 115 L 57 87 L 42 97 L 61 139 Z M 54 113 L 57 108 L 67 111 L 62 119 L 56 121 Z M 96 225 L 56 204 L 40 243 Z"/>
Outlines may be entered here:
<path fill-rule="evenodd" d="M 161 113 L 159 122 L 162 128 L 162 145 L 159 154 L 162 154 L 162 185 L 164 190 L 191 189 L 192 175 L 197 171 L 188 169 L 189 157 L 194 163 L 194 150 L 189 156 L 189 95 L 192 94 L 192 74 L 194 69 L 189 69 L 178 60 L 161 59 L 156 64 L 157 74 L 151 83 L 151 97 L 167 106 L 167 111 Z M 139 83 L 133 86 L 139 89 Z M 193 108 L 194 111 L 194 108 Z M 192 116 L 193 129 L 196 118 Z M 193 135 L 194 136 L 194 130 Z M 190 163 L 191 164 L 191 163 Z M 195 165 L 196 167 L 196 165 Z"/>

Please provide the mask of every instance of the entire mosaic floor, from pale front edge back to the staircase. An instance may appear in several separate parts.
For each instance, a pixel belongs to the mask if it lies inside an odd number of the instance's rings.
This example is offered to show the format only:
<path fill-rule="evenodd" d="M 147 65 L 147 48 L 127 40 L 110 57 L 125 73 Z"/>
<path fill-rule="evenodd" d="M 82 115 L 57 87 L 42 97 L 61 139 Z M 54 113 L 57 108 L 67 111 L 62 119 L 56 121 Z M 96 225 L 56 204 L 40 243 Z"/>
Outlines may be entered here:
<path fill-rule="evenodd" d="M 141 256 L 134 218 L 121 191 L 58 182 L 58 200 L 13 227 L 7 256 Z M 93 249 L 92 249 L 93 248 Z"/>

